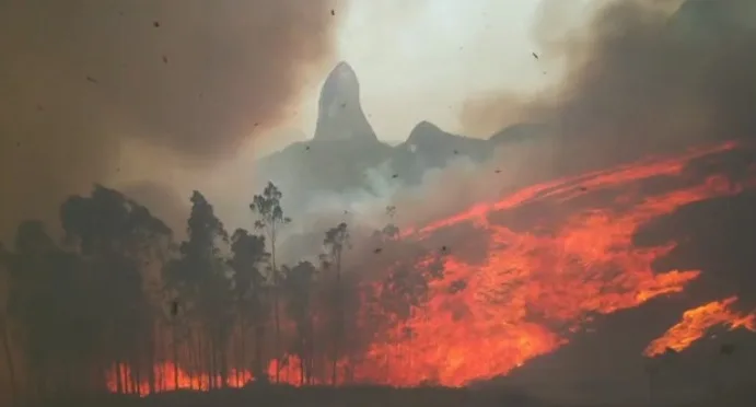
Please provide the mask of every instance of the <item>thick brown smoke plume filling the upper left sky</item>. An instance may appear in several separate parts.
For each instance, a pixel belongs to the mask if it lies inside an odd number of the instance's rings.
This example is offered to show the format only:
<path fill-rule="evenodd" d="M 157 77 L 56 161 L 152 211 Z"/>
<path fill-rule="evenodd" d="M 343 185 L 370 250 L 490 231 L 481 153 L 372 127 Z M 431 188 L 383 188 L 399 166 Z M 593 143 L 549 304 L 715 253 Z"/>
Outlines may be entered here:
<path fill-rule="evenodd" d="M 276 125 L 333 51 L 336 2 L 3 1 L 0 230 L 121 171 L 212 165 Z M 164 156 L 120 163 L 133 140 Z"/>

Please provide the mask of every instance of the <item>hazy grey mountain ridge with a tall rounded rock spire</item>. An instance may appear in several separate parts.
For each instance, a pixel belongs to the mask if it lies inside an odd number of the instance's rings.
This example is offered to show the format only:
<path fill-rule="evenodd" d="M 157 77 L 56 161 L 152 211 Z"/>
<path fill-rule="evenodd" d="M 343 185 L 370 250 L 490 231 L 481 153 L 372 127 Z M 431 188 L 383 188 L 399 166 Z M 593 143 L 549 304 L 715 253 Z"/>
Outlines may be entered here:
<path fill-rule="evenodd" d="M 412 185 L 428 170 L 444 167 L 456 158 L 482 162 L 500 144 L 536 140 L 547 133 L 544 126 L 523 124 L 485 140 L 454 135 L 421 121 L 405 141 L 382 142 L 362 111 L 359 92 L 354 70 L 347 62 L 339 62 L 321 90 L 313 139 L 292 143 L 256 162 L 257 178 L 279 185 L 289 208 L 306 206 L 317 191 L 370 191 L 365 176 L 369 170 Z"/>

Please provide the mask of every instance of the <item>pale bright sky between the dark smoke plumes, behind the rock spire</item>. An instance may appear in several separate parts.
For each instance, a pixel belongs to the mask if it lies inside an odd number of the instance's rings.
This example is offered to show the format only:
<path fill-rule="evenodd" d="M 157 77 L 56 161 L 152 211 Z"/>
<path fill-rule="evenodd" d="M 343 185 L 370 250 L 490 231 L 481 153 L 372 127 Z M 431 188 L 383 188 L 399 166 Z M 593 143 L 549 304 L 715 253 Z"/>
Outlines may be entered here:
<path fill-rule="evenodd" d="M 321 85 L 339 60 L 354 68 L 364 112 L 380 139 L 403 140 L 421 120 L 487 137 L 462 126 L 465 103 L 502 91 L 536 93 L 558 80 L 554 61 L 538 49 L 534 27 L 551 24 L 559 35 L 588 15 L 581 11 L 586 0 L 565 0 L 568 7 L 560 1 L 350 0 L 346 15 L 340 15 L 337 55 L 313 69 L 288 123 L 256 138 L 212 172 L 194 176 L 178 171 L 175 185 L 182 195 L 189 188 L 206 193 L 232 223 L 246 217 L 243 202 L 253 194 L 247 186 L 255 158 L 312 137 Z M 565 9 L 563 19 L 540 21 L 544 7 Z"/>

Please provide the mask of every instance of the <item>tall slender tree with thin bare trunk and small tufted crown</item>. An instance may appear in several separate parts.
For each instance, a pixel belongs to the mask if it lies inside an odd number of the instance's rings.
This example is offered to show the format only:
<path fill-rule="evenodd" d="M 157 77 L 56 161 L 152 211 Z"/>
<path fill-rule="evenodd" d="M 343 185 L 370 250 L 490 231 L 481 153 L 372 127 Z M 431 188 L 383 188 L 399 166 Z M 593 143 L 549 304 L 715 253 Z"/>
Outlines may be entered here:
<path fill-rule="evenodd" d="M 268 182 L 268 185 L 263 190 L 263 194 L 255 195 L 249 209 L 257 216 L 255 221 L 255 229 L 264 230 L 268 242 L 270 242 L 270 282 L 272 291 L 272 309 L 274 309 L 274 324 L 275 334 L 275 356 L 280 359 L 280 337 L 281 337 L 281 319 L 279 311 L 279 288 L 281 286 L 280 272 L 276 266 L 276 244 L 278 243 L 278 235 L 280 229 L 291 222 L 290 218 L 283 214 L 281 208 L 281 198 L 283 194 L 278 189 L 274 183 Z M 276 383 L 280 380 L 280 367 L 276 367 Z"/>

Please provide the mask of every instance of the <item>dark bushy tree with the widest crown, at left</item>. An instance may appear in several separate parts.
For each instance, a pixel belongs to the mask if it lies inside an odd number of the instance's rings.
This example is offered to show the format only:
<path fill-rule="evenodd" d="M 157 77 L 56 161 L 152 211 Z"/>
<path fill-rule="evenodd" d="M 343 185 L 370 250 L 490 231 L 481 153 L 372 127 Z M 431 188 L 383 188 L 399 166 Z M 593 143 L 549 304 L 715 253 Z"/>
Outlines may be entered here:
<path fill-rule="evenodd" d="M 60 220 L 66 244 L 81 255 L 81 267 L 92 277 L 88 281 L 97 298 L 91 300 L 97 301 L 100 322 L 109 338 L 102 351 L 116 371 L 130 368 L 129 377 L 118 374 L 119 391 L 138 391 L 142 373 L 153 391 L 156 315 L 146 276 L 170 245 L 171 230 L 143 206 L 100 185 L 89 197 L 68 198 L 60 207 Z"/>

